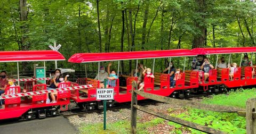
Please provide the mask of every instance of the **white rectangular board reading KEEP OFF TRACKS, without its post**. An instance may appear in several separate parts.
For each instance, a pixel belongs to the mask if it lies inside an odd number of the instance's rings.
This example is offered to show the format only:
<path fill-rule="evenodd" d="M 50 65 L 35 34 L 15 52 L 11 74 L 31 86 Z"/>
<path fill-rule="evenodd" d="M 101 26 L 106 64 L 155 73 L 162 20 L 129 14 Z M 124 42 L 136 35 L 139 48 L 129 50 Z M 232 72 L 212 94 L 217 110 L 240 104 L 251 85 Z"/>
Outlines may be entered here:
<path fill-rule="evenodd" d="M 114 88 L 97 88 L 97 100 L 113 100 Z"/>

